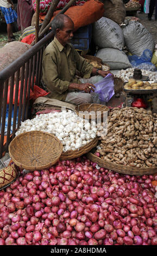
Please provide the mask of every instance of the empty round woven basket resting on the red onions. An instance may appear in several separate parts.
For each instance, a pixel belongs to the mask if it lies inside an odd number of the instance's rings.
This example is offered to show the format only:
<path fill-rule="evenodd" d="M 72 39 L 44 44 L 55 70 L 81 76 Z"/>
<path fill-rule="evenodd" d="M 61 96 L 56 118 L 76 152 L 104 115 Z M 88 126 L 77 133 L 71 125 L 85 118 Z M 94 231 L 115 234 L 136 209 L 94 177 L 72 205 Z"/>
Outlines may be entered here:
<path fill-rule="evenodd" d="M 24 132 L 9 144 L 12 161 L 27 170 L 47 169 L 62 153 L 62 144 L 54 135 L 42 131 Z"/>

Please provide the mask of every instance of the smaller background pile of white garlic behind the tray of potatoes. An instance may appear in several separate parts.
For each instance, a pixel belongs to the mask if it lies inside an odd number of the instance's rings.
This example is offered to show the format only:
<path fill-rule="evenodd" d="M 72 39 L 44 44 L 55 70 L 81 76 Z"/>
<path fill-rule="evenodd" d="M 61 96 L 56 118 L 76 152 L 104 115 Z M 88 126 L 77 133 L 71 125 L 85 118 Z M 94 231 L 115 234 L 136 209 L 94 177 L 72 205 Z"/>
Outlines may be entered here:
<path fill-rule="evenodd" d="M 142 75 L 143 76 L 149 76 L 149 80 L 150 81 L 157 81 L 157 72 L 152 72 L 152 71 L 148 71 L 148 70 L 144 70 L 142 69 Z M 134 73 L 134 69 L 130 68 L 130 69 L 122 69 L 120 71 L 117 72 L 116 77 L 120 77 L 124 82 L 128 82 L 130 76 L 133 76 Z"/>

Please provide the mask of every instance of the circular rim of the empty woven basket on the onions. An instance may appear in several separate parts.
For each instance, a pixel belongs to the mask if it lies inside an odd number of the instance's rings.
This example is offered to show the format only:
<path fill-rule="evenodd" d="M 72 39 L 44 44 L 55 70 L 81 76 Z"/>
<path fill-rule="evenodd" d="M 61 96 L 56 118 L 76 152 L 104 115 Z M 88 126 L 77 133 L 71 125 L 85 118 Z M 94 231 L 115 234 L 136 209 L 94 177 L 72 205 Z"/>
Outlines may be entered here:
<path fill-rule="evenodd" d="M 38 167 L 34 167 L 34 166 L 27 166 L 26 164 L 23 164 L 23 163 L 20 163 L 19 161 L 17 161 L 15 158 L 14 158 L 14 156 L 12 155 L 12 153 L 11 153 L 11 145 L 12 144 L 14 144 L 14 142 L 15 142 L 15 140 L 17 140 L 18 138 L 20 138 L 20 137 L 23 137 L 24 135 L 26 135 L 26 134 L 28 134 L 28 133 L 41 133 L 41 134 L 46 134 L 47 136 L 51 136 L 51 137 L 53 137 L 54 139 L 55 139 L 55 141 L 57 141 L 58 143 L 59 143 L 59 145 L 60 145 L 60 147 L 59 147 L 59 156 L 57 157 L 57 159 L 55 159 L 55 160 L 53 160 L 51 163 L 47 163 L 47 164 L 45 164 L 45 165 L 42 165 L 42 166 L 38 166 Z M 53 164 L 55 164 L 58 160 L 59 160 L 59 158 L 60 158 L 60 155 L 61 155 L 61 153 L 62 153 L 62 149 L 63 149 L 63 145 L 62 145 L 62 143 L 60 142 L 60 140 L 56 137 L 56 136 L 54 136 L 52 133 L 48 133 L 48 132 L 43 132 L 43 131 L 28 131 L 28 132 L 23 132 L 23 133 L 21 133 L 20 135 L 17 135 L 14 139 L 12 139 L 12 141 L 10 142 L 10 144 L 9 144 L 9 155 L 10 155 L 10 157 L 11 157 L 11 159 L 12 159 L 12 161 L 18 166 L 18 167 L 20 167 L 20 168 L 23 168 L 23 169 L 27 169 L 27 170 L 41 170 L 41 169 L 46 169 L 46 168 L 49 168 L 49 167 L 51 167 Z"/>

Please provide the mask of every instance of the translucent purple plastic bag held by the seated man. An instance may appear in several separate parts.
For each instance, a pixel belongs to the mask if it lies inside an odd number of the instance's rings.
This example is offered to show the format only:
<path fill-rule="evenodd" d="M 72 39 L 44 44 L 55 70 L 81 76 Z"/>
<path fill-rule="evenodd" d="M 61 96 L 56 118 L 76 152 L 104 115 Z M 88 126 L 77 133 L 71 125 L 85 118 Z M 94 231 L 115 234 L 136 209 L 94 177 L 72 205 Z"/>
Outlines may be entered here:
<path fill-rule="evenodd" d="M 111 74 L 105 76 L 101 81 L 95 83 L 95 93 L 99 95 L 99 99 L 108 102 L 114 96 L 114 78 Z"/>

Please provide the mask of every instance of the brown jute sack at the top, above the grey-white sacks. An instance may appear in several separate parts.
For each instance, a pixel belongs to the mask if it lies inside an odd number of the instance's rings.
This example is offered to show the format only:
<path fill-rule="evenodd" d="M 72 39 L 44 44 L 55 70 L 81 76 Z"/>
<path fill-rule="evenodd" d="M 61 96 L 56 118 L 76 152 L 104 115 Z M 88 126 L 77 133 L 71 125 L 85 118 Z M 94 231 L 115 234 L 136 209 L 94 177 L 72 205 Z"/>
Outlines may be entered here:
<path fill-rule="evenodd" d="M 119 25 L 125 19 L 126 11 L 122 0 L 101 0 L 104 3 L 104 17 L 115 21 Z"/>

